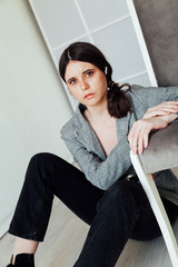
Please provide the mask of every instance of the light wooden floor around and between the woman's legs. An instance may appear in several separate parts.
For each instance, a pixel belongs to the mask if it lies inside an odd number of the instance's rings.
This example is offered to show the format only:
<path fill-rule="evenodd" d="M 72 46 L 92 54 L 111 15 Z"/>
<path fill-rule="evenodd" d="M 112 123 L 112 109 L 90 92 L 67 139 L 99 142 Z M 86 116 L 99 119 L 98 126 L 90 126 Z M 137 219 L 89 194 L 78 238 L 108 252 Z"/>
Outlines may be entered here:
<path fill-rule="evenodd" d="M 46 235 L 36 254 L 37 267 L 72 267 L 85 241 L 89 226 L 55 199 Z M 178 240 L 178 220 L 174 226 Z M 0 267 L 6 267 L 13 247 L 13 236 L 0 239 Z M 92 266 L 91 266 L 92 267 Z M 162 237 L 152 241 L 129 240 L 116 267 L 171 267 Z"/>

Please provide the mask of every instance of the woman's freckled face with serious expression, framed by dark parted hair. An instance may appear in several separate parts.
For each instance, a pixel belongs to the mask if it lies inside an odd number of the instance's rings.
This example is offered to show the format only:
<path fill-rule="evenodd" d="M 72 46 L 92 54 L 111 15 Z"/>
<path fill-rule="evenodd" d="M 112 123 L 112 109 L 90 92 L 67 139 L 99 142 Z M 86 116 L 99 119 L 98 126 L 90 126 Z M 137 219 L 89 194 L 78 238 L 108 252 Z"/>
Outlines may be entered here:
<path fill-rule="evenodd" d="M 107 79 L 95 65 L 71 60 L 65 79 L 70 93 L 87 107 L 107 102 Z"/>

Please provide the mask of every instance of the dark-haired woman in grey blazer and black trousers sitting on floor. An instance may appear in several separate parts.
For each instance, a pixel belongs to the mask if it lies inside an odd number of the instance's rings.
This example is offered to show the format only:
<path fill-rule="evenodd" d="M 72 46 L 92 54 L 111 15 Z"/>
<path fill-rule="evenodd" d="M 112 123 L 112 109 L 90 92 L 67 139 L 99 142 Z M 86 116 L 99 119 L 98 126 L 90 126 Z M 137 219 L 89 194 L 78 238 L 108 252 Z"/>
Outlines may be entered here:
<path fill-rule="evenodd" d="M 90 225 L 73 266 L 112 267 L 128 238 L 149 240 L 160 235 L 129 150 L 141 154 L 149 132 L 178 117 L 178 87 L 126 83 L 122 87 L 129 89 L 123 91 L 112 81 L 103 55 L 86 42 L 72 43 L 63 51 L 59 71 L 80 102 L 61 136 L 82 171 L 51 154 L 32 157 L 9 229 L 17 236 L 9 267 L 34 266 L 33 255 L 44 238 L 53 195 Z M 167 179 L 177 182 L 170 170 L 156 175 L 156 181 Z M 170 199 L 162 201 L 172 222 L 177 206 Z"/>

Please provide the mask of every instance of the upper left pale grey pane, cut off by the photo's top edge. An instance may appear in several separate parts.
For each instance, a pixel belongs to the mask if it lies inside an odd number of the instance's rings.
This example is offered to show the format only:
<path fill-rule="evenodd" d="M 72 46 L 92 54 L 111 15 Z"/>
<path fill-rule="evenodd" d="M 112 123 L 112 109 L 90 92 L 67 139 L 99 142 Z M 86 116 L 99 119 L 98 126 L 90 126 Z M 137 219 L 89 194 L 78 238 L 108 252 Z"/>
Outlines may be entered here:
<path fill-rule="evenodd" d="M 31 3 L 51 48 L 85 33 L 73 0 L 34 0 Z"/>

